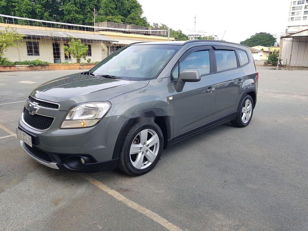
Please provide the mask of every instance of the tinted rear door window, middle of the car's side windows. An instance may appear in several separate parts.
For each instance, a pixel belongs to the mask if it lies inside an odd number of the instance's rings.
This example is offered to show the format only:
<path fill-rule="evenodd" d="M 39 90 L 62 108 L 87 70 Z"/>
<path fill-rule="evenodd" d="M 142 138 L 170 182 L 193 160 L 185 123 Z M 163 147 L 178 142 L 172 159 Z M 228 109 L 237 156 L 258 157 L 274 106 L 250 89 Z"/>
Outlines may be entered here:
<path fill-rule="evenodd" d="M 215 51 L 217 71 L 224 71 L 237 67 L 236 55 L 234 51 Z"/>

